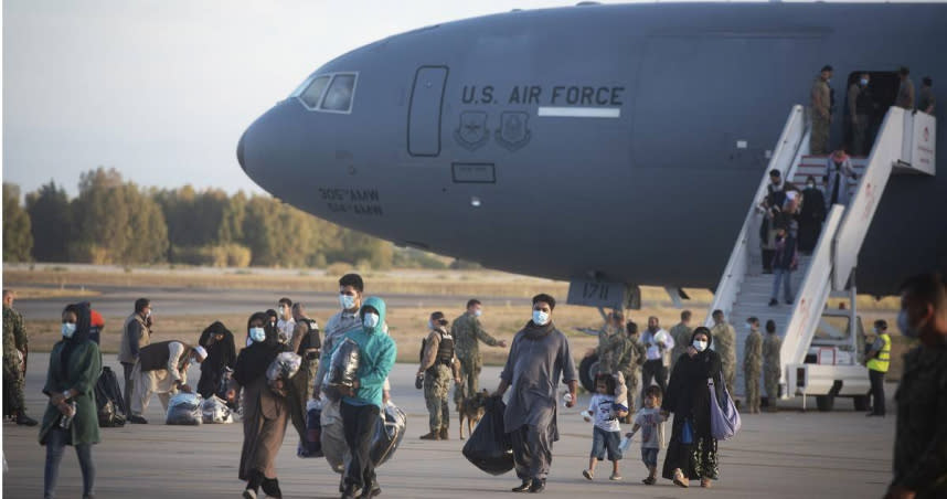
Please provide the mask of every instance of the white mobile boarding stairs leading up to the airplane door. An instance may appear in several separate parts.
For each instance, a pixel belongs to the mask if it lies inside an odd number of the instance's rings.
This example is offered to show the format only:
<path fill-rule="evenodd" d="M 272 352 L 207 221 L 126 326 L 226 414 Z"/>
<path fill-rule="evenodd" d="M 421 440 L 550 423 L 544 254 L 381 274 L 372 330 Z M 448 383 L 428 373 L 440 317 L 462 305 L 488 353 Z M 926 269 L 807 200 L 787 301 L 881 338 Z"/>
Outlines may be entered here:
<path fill-rule="evenodd" d="M 791 273 L 795 300 L 786 304 L 780 286 L 779 304 L 770 307 L 774 276 L 763 274 L 759 227 L 764 213 L 758 208 L 767 193 L 768 172 L 779 170 L 784 179 L 802 190 L 810 174 L 817 183 L 824 183 L 828 161 L 824 156 L 809 155 L 808 119 L 801 106 L 794 106 L 705 319 L 705 326 L 712 327 L 711 312 L 723 310 L 736 330 L 737 378 L 735 386 L 730 387 L 732 393 L 742 396 L 745 392 L 743 350 L 748 331 L 744 325 L 749 317 L 760 320 L 764 336 L 766 321 L 774 320 L 783 338 L 780 397 L 817 395 L 820 408 L 824 408 L 824 400 L 868 392 L 868 373 L 858 351 L 854 279 L 858 254 L 891 176 L 934 176 L 935 127 L 935 119 L 924 113 L 913 114 L 897 107 L 887 112 L 870 155 L 852 160 L 856 180 L 849 182 L 848 205 L 836 204 L 829 210 L 811 255 L 799 253 L 798 268 Z M 837 321 L 824 319 L 830 297 L 842 298 L 845 306 L 842 315 L 849 317 L 848 331 L 838 331 Z M 760 393 L 766 396 L 762 379 L 758 382 Z"/>

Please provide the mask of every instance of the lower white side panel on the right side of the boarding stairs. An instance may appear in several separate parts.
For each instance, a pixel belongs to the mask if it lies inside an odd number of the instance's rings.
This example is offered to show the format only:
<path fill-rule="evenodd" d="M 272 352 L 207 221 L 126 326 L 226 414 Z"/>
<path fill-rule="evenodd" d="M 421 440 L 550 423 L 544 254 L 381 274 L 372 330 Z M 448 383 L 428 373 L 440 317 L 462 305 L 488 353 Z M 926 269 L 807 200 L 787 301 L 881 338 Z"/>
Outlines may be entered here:
<path fill-rule="evenodd" d="M 809 344 L 812 342 L 812 335 L 816 332 L 816 326 L 822 319 L 822 310 L 826 308 L 831 291 L 833 241 L 844 211 L 845 208 L 841 204 L 832 205 L 826 223 L 822 225 L 819 242 L 816 243 L 816 248 L 812 251 L 809 267 L 806 269 L 802 283 L 796 291 L 796 301 L 792 304 L 792 311 L 789 315 L 789 322 L 783 337 L 783 346 L 779 348 L 779 360 L 783 365 L 805 362 Z M 780 379 L 785 380 L 785 369 L 781 369 Z M 787 392 L 784 391 L 783 393 Z"/>

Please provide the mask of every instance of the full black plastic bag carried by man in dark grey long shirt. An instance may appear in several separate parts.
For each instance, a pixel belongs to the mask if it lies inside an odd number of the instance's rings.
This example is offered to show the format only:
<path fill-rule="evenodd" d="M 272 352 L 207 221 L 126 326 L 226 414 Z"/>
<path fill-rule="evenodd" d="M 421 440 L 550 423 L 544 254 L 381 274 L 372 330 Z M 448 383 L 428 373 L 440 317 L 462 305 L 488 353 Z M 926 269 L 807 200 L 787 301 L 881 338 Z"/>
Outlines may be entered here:
<path fill-rule="evenodd" d="M 507 404 L 500 397 L 487 400 L 483 418 L 464 444 L 464 457 L 490 475 L 513 469 L 513 443 L 503 427 Z"/>

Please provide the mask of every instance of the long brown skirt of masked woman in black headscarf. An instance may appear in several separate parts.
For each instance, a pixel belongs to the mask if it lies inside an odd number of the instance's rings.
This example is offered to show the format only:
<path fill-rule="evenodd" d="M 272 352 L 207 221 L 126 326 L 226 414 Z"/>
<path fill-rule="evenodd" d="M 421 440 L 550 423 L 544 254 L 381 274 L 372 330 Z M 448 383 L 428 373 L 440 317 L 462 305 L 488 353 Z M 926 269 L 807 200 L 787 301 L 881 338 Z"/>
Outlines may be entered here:
<path fill-rule="evenodd" d="M 276 478 L 276 455 L 283 446 L 289 417 L 287 400 L 273 393 L 266 385 L 265 375 L 244 386 L 243 396 L 240 479 L 248 480 L 254 470 L 263 473 L 266 478 Z"/>

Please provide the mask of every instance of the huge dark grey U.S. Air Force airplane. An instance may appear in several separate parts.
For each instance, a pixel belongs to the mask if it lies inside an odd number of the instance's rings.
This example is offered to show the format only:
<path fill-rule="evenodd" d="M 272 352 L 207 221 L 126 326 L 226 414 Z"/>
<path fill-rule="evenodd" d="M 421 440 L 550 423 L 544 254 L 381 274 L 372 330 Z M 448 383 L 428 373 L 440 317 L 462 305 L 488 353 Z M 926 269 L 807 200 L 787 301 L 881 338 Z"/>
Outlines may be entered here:
<path fill-rule="evenodd" d="M 487 267 L 713 288 L 787 113 L 834 66 L 947 82 L 947 4 L 655 3 L 512 11 L 341 55 L 237 146 L 263 189 L 316 216 Z M 919 85 L 918 85 L 919 86 Z M 943 86 L 940 86 L 943 88 Z M 879 118 L 880 119 L 880 118 Z M 936 132 L 945 147 L 945 134 Z M 887 183 L 859 290 L 947 272 L 947 176 Z"/>

